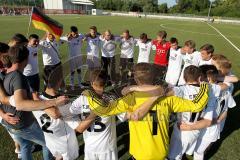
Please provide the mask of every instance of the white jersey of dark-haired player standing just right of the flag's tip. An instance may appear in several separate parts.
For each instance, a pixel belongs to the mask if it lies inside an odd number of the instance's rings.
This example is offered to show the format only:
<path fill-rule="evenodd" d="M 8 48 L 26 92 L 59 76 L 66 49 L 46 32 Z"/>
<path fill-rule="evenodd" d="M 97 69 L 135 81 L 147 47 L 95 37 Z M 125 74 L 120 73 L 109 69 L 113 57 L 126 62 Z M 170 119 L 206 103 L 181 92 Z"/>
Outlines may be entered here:
<path fill-rule="evenodd" d="M 68 39 L 68 37 L 61 37 L 62 41 L 66 41 L 68 43 L 70 58 L 81 55 L 82 40 L 84 37 L 85 36 L 83 34 L 79 34 L 78 37 L 70 39 Z"/>

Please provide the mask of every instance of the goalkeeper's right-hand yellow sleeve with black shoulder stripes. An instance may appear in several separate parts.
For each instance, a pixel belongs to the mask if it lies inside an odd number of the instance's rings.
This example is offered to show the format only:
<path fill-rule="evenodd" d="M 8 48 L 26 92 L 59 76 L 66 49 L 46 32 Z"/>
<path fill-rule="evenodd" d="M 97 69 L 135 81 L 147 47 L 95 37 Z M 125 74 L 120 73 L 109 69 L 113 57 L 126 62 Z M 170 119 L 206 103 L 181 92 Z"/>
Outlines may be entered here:
<path fill-rule="evenodd" d="M 208 91 L 209 88 L 207 83 L 202 83 L 199 93 L 193 101 L 171 96 L 163 99 L 163 103 L 169 104 L 173 112 L 200 112 L 208 103 Z"/>

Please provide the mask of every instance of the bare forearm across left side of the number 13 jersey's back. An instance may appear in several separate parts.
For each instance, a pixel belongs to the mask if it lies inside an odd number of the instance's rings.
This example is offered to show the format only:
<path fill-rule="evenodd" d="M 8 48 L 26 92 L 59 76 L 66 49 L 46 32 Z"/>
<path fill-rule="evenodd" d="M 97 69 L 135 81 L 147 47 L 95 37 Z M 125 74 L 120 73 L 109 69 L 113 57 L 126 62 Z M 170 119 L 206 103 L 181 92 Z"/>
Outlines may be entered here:
<path fill-rule="evenodd" d="M 83 133 L 86 129 L 88 129 L 91 124 L 95 121 L 96 114 L 93 112 L 90 113 L 90 115 L 84 119 L 84 121 L 81 121 L 77 128 L 75 129 L 76 132 Z"/>

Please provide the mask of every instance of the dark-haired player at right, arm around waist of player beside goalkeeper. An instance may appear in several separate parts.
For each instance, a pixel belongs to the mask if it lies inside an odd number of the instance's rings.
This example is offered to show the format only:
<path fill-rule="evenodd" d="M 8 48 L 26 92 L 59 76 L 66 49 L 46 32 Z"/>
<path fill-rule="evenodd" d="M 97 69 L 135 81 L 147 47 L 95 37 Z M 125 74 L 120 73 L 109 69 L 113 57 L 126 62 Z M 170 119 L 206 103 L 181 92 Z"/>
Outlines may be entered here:
<path fill-rule="evenodd" d="M 213 123 L 211 126 L 205 128 L 203 126 L 203 120 L 198 121 L 195 124 L 188 125 L 188 124 L 181 124 L 180 128 L 181 130 L 189 131 L 189 130 L 198 130 L 201 129 L 200 135 L 195 141 L 195 143 L 192 146 L 192 151 L 190 150 L 187 154 L 192 154 L 194 151 L 194 159 L 195 160 L 203 160 L 204 159 L 204 152 L 207 149 L 207 147 L 210 146 L 212 142 L 215 142 L 220 135 L 220 126 L 217 124 L 218 117 L 220 116 L 220 112 L 222 112 L 222 109 L 219 108 L 219 97 L 221 93 L 225 92 L 226 89 L 228 89 L 228 86 L 224 83 L 217 84 L 218 79 L 218 70 L 213 65 L 202 65 L 200 66 L 200 69 L 202 70 L 202 77 L 201 79 L 203 81 L 207 81 L 210 84 L 210 88 L 212 91 L 212 99 L 214 99 L 212 102 L 213 106 Z M 225 104 L 224 104 L 225 105 Z"/>

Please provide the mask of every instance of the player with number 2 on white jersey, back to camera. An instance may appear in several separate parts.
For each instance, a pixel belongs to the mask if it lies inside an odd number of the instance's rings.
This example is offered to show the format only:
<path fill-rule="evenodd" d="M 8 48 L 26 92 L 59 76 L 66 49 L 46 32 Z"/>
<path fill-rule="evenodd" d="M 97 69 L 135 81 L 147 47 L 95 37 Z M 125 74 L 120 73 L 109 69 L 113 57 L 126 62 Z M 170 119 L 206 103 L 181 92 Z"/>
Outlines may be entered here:
<path fill-rule="evenodd" d="M 45 91 L 39 96 L 41 100 L 52 100 L 59 96 L 58 89 L 61 81 L 51 79 L 47 82 Z M 74 117 L 69 108 L 71 103 L 52 107 L 45 110 L 33 111 L 35 118 L 41 127 L 46 146 L 57 159 L 74 160 L 78 158 L 78 142 L 75 127 L 79 124 L 78 117 Z M 67 121 L 74 121 L 69 125 Z"/>

